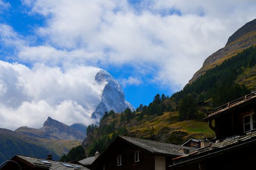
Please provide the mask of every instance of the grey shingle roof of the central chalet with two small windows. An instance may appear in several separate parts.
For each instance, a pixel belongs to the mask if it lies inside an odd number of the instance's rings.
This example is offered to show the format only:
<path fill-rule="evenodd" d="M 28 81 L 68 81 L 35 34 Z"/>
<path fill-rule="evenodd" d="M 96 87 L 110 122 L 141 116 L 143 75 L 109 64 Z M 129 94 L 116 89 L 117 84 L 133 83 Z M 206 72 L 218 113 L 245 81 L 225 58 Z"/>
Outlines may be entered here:
<path fill-rule="evenodd" d="M 126 136 L 119 137 L 127 142 L 137 145 L 137 147 L 140 147 L 144 150 L 151 152 L 152 154 L 181 156 L 185 155 L 184 149 L 189 150 L 190 152 L 195 150 L 190 147 L 183 147 L 181 145 L 175 145 L 170 143 L 162 143 L 152 140 L 144 140 Z"/>

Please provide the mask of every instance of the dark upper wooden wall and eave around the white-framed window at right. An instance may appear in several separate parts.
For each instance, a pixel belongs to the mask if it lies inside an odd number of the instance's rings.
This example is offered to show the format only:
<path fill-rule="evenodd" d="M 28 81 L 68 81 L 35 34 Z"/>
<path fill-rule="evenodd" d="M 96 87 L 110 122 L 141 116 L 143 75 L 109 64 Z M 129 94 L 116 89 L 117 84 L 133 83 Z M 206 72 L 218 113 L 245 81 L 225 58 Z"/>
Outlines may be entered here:
<path fill-rule="evenodd" d="M 244 117 L 254 114 L 255 122 L 255 110 L 256 95 L 251 93 L 236 101 L 220 106 L 206 119 L 208 119 L 210 128 L 215 131 L 216 139 L 223 140 L 230 136 L 243 135 L 255 130 L 255 127 L 249 131 L 244 130 Z M 212 120 L 215 120 L 215 126 L 212 125 Z M 255 126 L 255 123 L 253 126 Z"/>

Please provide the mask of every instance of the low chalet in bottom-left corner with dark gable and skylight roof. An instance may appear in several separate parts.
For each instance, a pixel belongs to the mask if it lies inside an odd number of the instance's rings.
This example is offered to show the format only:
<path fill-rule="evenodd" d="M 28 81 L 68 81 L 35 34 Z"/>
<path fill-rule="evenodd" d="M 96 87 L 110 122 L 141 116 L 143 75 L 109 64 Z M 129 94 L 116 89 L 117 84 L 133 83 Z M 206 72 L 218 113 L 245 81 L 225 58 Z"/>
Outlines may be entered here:
<path fill-rule="evenodd" d="M 82 164 L 64 163 L 48 159 L 15 155 L 1 170 L 89 170 Z"/>

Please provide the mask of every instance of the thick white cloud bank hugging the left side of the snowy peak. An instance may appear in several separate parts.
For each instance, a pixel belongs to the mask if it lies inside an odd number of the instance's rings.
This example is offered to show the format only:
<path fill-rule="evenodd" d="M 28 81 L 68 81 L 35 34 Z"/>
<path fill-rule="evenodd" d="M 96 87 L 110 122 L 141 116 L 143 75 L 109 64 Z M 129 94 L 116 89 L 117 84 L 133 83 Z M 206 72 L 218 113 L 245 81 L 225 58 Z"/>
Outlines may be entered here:
<path fill-rule="evenodd" d="M 37 64 L 0 61 L 0 127 L 41 127 L 48 116 L 62 123 L 91 124 L 104 84 L 94 77 L 96 67 L 76 66 L 61 70 Z"/>

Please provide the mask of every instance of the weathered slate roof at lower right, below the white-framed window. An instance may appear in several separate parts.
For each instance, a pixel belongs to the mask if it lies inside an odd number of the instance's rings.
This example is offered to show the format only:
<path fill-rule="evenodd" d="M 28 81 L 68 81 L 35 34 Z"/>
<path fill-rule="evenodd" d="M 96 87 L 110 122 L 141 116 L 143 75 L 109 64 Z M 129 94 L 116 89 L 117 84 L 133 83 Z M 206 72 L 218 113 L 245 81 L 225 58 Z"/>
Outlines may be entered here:
<path fill-rule="evenodd" d="M 256 131 L 249 132 L 242 136 L 232 136 L 222 142 L 212 143 L 208 147 L 199 148 L 194 152 L 191 152 L 187 155 L 183 155 L 177 158 L 174 158 L 174 165 L 177 166 L 184 162 L 193 163 L 199 159 L 205 159 L 206 157 L 213 157 L 216 154 L 225 153 L 227 150 L 239 149 L 240 147 L 245 147 L 247 145 L 256 144 Z"/>

